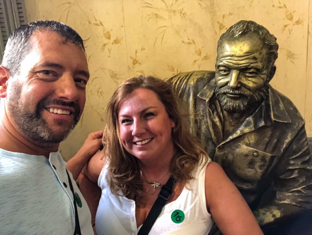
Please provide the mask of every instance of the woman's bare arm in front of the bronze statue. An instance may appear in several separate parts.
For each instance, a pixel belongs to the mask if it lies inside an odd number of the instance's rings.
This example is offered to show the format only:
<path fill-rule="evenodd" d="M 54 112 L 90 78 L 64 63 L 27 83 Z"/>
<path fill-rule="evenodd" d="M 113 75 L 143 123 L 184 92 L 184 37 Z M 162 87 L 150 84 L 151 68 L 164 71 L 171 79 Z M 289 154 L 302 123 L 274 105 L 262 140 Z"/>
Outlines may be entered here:
<path fill-rule="evenodd" d="M 256 218 L 221 166 L 209 162 L 205 175 L 207 209 L 224 235 L 263 235 Z"/>

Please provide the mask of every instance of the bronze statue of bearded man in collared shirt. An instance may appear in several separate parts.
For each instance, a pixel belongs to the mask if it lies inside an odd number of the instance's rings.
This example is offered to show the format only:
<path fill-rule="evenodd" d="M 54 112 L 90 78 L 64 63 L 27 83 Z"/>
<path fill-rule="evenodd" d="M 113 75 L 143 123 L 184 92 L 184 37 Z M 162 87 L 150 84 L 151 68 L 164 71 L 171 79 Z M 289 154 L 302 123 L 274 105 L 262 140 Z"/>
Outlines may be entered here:
<path fill-rule="evenodd" d="M 235 183 L 266 234 L 286 234 L 292 228 L 287 219 L 294 222 L 312 208 L 305 122 L 269 85 L 277 49 L 266 28 L 240 21 L 218 41 L 216 72 L 168 79 L 190 111 L 192 134 Z"/>

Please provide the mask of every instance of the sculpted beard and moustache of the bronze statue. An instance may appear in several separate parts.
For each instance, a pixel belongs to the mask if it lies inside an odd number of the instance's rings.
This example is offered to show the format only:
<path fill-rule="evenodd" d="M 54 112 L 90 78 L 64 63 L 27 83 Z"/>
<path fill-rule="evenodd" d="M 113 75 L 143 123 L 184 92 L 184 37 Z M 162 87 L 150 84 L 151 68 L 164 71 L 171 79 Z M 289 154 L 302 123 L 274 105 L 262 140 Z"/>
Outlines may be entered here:
<path fill-rule="evenodd" d="M 217 99 L 220 102 L 221 107 L 223 110 L 230 112 L 230 113 L 241 113 L 246 111 L 247 109 L 255 109 L 258 107 L 263 100 L 265 100 L 268 97 L 268 85 L 264 85 L 256 91 L 255 93 L 252 93 L 250 95 L 237 91 L 236 89 L 232 89 L 228 87 L 227 89 L 223 90 L 222 92 L 217 88 L 217 85 L 214 87 L 214 91 L 216 93 Z M 242 96 L 241 99 L 232 99 L 229 98 L 227 95 L 224 95 L 223 93 L 229 93 L 229 94 L 240 94 Z"/>

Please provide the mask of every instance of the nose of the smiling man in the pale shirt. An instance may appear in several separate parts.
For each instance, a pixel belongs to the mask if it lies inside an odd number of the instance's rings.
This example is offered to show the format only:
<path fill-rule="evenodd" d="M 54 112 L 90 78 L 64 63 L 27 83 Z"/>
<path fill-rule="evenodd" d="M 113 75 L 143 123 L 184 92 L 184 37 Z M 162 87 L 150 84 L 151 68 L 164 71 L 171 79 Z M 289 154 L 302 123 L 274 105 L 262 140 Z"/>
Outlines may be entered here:
<path fill-rule="evenodd" d="M 64 74 L 57 80 L 56 95 L 65 101 L 75 101 L 78 99 L 78 89 L 73 76 Z"/>

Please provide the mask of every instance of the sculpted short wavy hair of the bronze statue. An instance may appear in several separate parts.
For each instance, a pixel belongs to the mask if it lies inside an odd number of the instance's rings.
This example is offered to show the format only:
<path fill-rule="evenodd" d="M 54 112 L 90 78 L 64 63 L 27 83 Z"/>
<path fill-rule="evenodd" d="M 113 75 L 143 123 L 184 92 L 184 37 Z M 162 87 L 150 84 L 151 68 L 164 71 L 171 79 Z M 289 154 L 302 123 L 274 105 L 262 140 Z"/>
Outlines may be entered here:
<path fill-rule="evenodd" d="M 250 32 L 256 32 L 259 35 L 259 38 L 262 40 L 263 45 L 268 50 L 268 62 L 269 65 L 273 65 L 275 60 L 277 59 L 277 50 L 278 44 L 276 42 L 276 38 L 273 34 L 271 34 L 266 28 L 262 25 L 257 24 L 253 21 L 241 20 L 236 24 L 232 25 L 225 33 L 223 33 L 218 40 L 218 46 L 221 45 L 224 38 L 231 34 L 234 38 L 238 38 Z"/>

